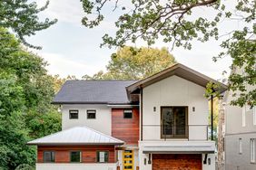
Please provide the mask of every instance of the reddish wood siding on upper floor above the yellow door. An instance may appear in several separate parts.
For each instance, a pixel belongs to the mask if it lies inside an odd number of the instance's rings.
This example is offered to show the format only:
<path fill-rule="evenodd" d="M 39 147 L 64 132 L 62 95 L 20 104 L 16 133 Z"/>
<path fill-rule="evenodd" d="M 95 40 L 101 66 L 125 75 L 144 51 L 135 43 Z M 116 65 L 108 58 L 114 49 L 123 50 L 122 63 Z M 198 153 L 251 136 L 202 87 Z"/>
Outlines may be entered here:
<path fill-rule="evenodd" d="M 127 145 L 138 145 L 140 136 L 139 109 L 133 109 L 133 118 L 123 118 L 123 109 L 112 109 L 112 137 Z"/>

